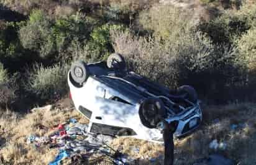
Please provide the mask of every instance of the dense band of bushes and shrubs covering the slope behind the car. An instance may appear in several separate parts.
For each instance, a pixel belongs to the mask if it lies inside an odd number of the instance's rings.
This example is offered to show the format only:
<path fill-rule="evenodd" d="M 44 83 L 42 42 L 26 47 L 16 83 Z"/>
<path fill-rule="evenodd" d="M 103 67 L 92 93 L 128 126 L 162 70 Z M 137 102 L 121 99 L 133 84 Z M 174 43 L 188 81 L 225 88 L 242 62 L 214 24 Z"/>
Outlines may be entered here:
<path fill-rule="evenodd" d="M 255 4 L 237 4 L 198 24 L 190 13 L 156 1 L 0 5 L 0 84 L 12 91 L 1 105 L 59 99 L 68 92 L 72 61 L 105 60 L 114 51 L 130 69 L 170 88 L 191 84 L 211 103 L 255 97 Z"/>

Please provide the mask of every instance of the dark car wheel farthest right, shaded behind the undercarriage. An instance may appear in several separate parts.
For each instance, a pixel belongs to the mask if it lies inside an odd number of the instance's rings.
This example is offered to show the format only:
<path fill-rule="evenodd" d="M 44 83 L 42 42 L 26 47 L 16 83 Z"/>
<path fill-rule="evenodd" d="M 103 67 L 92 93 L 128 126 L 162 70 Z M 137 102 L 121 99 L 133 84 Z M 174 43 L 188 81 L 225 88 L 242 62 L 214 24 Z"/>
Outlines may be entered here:
<path fill-rule="evenodd" d="M 178 88 L 179 94 L 186 94 L 186 99 L 190 100 L 193 103 L 196 103 L 198 100 L 198 94 L 196 93 L 196 90 L 194 87 L 191 86 L 181 86 Z"/>

